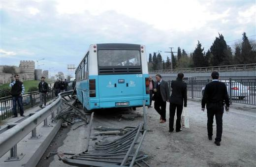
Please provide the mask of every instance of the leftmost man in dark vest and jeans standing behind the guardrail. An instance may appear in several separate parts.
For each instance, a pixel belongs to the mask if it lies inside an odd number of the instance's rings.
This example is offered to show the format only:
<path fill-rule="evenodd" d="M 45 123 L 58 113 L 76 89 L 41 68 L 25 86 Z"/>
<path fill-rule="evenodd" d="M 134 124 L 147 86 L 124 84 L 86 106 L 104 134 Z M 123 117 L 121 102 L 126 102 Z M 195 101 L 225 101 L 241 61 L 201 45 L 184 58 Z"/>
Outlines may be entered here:
<path fill-rule="evenodd" d="M 11 96 L 12 96 L 12 111 L 13 111 L 13 118 L 18 117 L 18 113 L 16 111 L 17 108 L 17 102 L 20 108 L 20 115 L 24 115 L 24 110 L 23 110 L 23 102 L 22 102 L 22 95 L 25 92 L 25 87 L 23 83 L 19 80 L 20 77 L 18 74 L 14 75 L 14 79 L 9 86 L 11 87 Z"/>

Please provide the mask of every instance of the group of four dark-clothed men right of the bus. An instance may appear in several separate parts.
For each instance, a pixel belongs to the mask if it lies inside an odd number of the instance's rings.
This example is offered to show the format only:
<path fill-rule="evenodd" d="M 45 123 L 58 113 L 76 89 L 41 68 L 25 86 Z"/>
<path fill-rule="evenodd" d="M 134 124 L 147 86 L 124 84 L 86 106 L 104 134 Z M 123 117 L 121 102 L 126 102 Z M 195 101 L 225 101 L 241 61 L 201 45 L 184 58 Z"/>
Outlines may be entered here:
<path fill-rule="evenodd" d="M 206 84 L 203 98 L 202 98 L 202 111 L 207 108 L 207 131 L 208 139 L 212 140 L 213 136 L 213 119 L 214 115 L 217 124 L 217 133 L 215 138 L 215 144 L 220 146 L 223 130 L 223 113 L 224 104 L 225 110 L 229 111 L 229 97 L 225 83 L 219 82 L 219 73 L 214 71 L 211 74 L 212 82 Z M 166 122 L 166 102 L 170 103 L 169 107 L 169 132 L 173 132 L 174 128 L 174 116 L 177 114 L 176 120 L 176 132 L 181 132 L 181 115 L 183 107 L 187 107 L 187 84 L 183 82 L 184 74 L 179 73 L 176 80 L 173 80 L 170 84 L 172 89 L 171 95 L 169 85 L 166 81 L 162 80 L 161 75 L 156 75 L 156 82 L 149 78 L 150 84 L 150 106 L 152 107 L 152 101 L 155 101 L 154 108 L 160 114 L 160 123 Z"/>

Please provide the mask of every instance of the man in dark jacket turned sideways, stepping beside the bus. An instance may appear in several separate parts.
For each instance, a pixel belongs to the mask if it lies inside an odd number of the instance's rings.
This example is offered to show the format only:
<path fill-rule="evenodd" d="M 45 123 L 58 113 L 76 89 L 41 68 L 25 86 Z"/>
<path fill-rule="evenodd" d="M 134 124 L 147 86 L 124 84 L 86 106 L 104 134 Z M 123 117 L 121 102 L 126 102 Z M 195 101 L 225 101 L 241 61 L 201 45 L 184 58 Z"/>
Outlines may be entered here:
<path fill-rule="evenodd" d="M 160 123 L 166 122 L 166 101 L 169 102 L 169 86 L 166 81 L 162 80 L 161 75 L 156 75 L 156 88 L 154 89 L 154 106 L 160 114 Z"/>

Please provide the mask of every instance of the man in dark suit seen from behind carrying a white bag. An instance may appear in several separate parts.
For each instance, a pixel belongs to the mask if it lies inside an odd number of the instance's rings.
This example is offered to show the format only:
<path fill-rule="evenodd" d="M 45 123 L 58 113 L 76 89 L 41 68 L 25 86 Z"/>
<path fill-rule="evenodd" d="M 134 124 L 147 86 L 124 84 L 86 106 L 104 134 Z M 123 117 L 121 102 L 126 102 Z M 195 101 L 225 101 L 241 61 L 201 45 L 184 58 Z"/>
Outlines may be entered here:
<path fill-rule="evenodd" d="M 179 73 L 176 81 L 171 82 L 171 97 L 170 97 L 170 118 L 169 132 L 173 132 L 173 123 L 175 111 L 177 108 L 176 132 L 181 131 L 181 114 L 184 107 L 187 107 L 187 84 L 182 81 L 184 74 Z"/>

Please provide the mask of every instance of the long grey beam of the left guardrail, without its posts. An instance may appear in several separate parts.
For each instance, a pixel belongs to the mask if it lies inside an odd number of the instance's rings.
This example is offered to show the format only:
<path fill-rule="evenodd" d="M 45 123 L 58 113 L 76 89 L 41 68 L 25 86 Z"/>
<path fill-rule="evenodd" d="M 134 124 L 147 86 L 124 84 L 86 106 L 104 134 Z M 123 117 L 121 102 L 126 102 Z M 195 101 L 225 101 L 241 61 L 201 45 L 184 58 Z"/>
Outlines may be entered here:
<path fill-rule="evenodd" d="M 34 128 L 36 128 L 42 121 L 48 118 L 62 104 L 62 95 L 71 94 L 71 91 L 59 93 L 58 98 L 38 112 L 34 112 L 32 116 L 17 123 L 12 128 L 0 134 L 0 157 L 8 152 L 15 144 L 26 137 Z"/>

